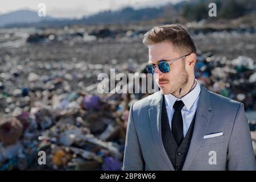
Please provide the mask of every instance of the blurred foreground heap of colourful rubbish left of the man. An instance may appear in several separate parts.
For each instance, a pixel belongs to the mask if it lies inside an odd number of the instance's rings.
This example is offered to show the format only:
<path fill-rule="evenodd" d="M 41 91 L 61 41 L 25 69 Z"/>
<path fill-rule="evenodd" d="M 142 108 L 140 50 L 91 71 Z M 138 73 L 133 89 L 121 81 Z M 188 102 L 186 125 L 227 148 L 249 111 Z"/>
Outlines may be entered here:
<path fill-rule="evenodd" d="M 15 109 L 0 123 L 0 170 L 121 170 L 130 102 L 52 94 L 30 111 Z M 38 164 L 39 151 L 46 165 Z"/>

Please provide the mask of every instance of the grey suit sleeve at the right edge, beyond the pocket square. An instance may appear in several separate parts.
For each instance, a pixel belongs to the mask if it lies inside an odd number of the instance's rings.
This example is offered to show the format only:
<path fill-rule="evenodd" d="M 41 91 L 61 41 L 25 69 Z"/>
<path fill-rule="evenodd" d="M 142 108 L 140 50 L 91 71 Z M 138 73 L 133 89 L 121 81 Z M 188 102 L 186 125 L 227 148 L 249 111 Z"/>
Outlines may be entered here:
<path fill-rule="evenodd" d="M 227 157 L 228 170 L 256 170 L 250 129 L 243 104 L 240 105 L 237 111 Z"/>

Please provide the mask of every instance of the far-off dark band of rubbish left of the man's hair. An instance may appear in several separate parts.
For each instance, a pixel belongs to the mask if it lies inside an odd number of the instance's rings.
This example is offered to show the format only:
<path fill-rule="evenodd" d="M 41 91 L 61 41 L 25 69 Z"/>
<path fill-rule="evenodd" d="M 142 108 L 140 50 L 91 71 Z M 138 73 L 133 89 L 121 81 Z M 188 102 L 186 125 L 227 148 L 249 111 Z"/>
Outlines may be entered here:
<path fill-rule="evenodd" d="M 143 34 L 147 32 L 146 27 L 133 26 L 129 30 L 127 28 L 109 28 L 109 27 L 86 27 L 86 28 L 70 28 L 64 26 L 58 31 L 45 30 L 30 34 L 27 43 L 88 43 L 94 41 L 102 41 L 110 39 L 131 40 L 131 38 L 143 38 Z M 69 42 L 71 41 L 71 42 Z"/>

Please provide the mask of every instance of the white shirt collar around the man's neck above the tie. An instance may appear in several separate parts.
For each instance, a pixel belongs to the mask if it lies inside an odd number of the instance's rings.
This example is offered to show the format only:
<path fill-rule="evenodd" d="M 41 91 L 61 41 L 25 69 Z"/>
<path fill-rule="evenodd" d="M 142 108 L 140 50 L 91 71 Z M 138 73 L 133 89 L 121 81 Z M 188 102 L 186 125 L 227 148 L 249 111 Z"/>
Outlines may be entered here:
<path fill-rule="evenodd" d="M 200 87 L 199 82 L 197 82 L 195 88 L 193 88 L 193 90 L 191 90 L 191 92 L 186 94 L 184 97 L 177 98 L 172 94 L 164 94 L 166 105 L 169 106 L 170 108 L 172 108 L 174 106 L 175 101 L 181 100 L 181 101 L 183 101 L 186 109 L 190 110 L 192 105 L 196 101 L 197 97 L 199 96 L 200 91 L 201 91 L 201 87 Z"/>

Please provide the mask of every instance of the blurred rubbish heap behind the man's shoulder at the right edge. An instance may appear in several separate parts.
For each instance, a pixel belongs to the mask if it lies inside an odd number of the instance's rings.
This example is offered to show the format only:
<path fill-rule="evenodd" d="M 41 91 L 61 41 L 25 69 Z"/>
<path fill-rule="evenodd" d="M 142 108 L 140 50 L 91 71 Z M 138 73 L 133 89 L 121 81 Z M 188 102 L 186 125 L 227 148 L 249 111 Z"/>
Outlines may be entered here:
<path fill-rule="evenodd" d="M 243 102 L 256 111 L 256 61 L 246 56 L 227 60 L 208 52 L 197 57 L 196 78 L 214 93 Z"/>

